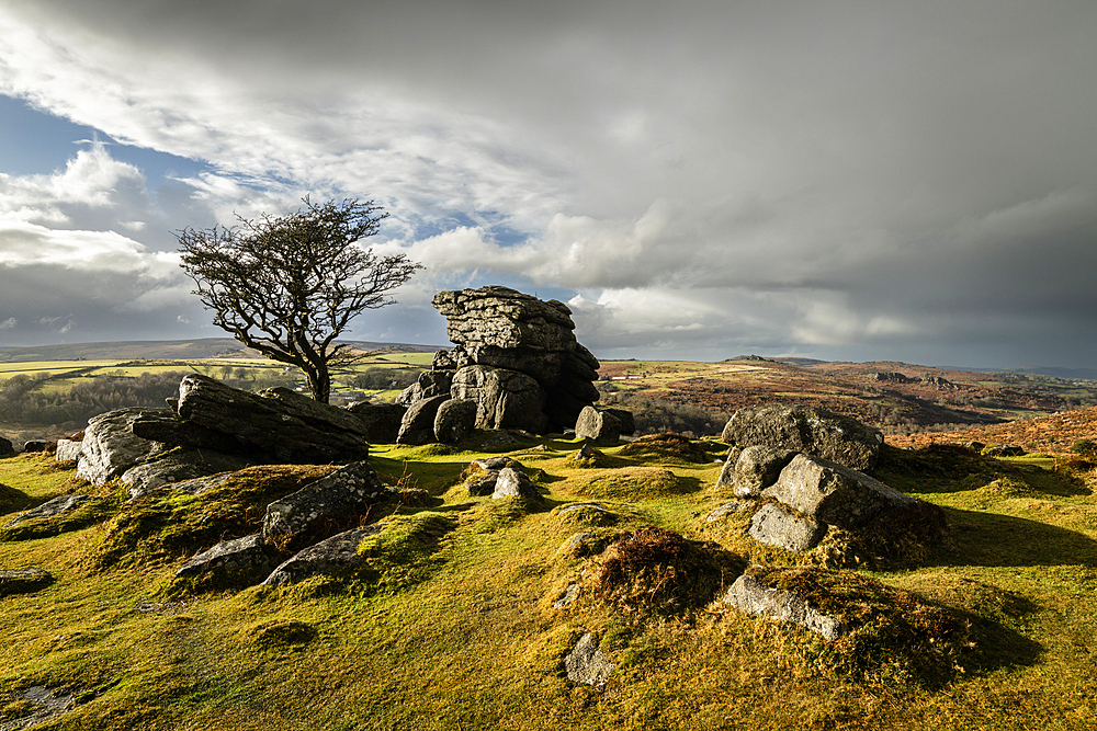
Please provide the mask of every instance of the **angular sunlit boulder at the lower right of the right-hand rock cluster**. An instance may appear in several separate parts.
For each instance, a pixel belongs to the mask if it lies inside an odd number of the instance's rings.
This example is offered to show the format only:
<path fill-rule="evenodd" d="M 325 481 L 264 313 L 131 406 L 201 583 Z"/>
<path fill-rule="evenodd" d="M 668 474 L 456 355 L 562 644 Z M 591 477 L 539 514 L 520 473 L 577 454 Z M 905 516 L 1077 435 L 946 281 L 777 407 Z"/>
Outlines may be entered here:
<path fill-rule="evenodd" d="M 856 530 L 883 511 L 918 501 L 863 472 L 819 457 L 796 455 L 762 495 L 819 523 Z"/>

